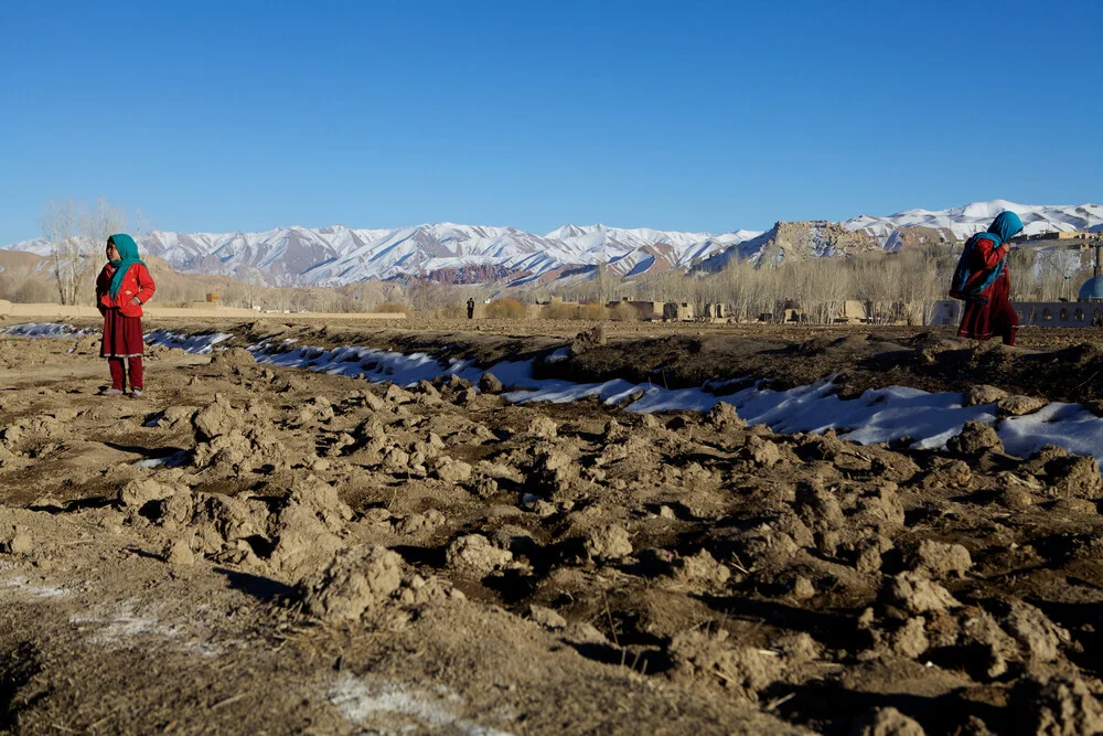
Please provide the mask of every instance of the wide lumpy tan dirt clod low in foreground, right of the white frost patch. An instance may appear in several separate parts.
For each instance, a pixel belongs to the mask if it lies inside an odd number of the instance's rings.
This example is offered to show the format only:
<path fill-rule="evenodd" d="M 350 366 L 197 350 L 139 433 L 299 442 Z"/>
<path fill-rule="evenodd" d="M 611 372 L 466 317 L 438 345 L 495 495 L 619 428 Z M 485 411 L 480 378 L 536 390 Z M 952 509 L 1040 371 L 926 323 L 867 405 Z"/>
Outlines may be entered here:
<path fill-rule="evenodd" d="M 781 658 L 774 652 L 732 646 L 727 631 L 683 631 L 671 640 L 666 653 L 673 665 L 671 676 L 715 678 L 751 702 L 758 702 L 759 692 L 779 680 L 784 670 Z"/>

